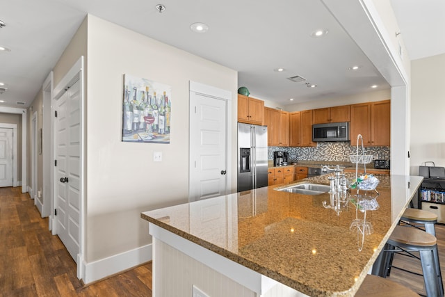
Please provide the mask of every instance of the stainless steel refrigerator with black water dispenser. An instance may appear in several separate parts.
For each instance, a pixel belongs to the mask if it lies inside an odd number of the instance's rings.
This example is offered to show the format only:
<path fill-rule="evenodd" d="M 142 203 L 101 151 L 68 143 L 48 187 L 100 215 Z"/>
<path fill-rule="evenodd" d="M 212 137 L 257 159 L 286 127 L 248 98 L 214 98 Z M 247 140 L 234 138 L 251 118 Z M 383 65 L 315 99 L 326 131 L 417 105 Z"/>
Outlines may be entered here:
<path fill-rule="evenodd" d="M 267 186 L 267 127 L 238 122 L 238 192 Z"/>

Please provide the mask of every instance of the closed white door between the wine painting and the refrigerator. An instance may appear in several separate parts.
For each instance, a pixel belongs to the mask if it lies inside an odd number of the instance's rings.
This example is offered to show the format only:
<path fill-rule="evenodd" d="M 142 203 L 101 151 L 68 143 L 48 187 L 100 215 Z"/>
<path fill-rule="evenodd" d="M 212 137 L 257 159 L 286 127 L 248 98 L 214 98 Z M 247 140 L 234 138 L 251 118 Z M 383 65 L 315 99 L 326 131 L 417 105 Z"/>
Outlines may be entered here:
<path fill-rule="evenodd" d="M 191 92 L 190 200 L 225 195 L 227 101 Z"/>

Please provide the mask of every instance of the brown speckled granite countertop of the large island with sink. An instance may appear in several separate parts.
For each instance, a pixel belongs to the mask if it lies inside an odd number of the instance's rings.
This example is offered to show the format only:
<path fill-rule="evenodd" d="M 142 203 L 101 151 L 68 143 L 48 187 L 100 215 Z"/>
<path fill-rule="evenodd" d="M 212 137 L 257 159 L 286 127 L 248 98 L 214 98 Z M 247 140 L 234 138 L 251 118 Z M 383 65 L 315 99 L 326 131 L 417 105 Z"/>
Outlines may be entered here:
<path fill-rule="evenodd" d="M 296 184 L 327 184 L 328 176 Z M 353 296 L 422 180 L 378 178 L 379 195 L 370 191 L 369 199 L 375 198 L 379 208 L 367 211 L 370 234 L 364 236 L 353 223 L 364 214 L 353 203 L 346 202 L 337 214 L 323 207 L 323 202 L 330 204 L 329 193 L 277 191 L 283 186 L 146 211 L 141 217 L 309 296 Z M 213 209 L 218 220 L 203 224 L 204 207 Z"/>

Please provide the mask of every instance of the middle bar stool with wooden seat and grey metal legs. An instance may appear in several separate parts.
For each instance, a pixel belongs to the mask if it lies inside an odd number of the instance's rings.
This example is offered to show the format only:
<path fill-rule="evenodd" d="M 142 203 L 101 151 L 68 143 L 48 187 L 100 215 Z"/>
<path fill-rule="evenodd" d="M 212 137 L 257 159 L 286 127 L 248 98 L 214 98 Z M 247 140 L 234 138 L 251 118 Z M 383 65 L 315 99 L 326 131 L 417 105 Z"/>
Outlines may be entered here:
<path fill-rule="evenodd" d="M 435 236 L 416 228 L 396 226 L 391 236 L 389 236 L 382 257 L 384 266 L 379 271 L 379 275 L 384 278 L 387 276 L 387 270 L 391 266 L 390 255 L 394 252 L 420 259 L 427 296 L 444 296 L 442 273 L 437 253 L 437 239 Z M 419 252 L 420 257 L 412 254 L 412 252 Z M 394 268 L 396 267 L 394 266 Z M 398 269 L 413 273 L 403 268 Z"/>

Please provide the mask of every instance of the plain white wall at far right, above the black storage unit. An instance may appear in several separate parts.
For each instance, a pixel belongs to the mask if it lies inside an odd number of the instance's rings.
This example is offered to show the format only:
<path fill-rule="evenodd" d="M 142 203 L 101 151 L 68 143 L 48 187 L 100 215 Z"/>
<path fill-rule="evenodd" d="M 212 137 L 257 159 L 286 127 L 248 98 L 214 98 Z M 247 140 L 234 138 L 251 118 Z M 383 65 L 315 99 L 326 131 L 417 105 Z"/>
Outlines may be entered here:
<path fill-rule="evenodd" d="M 434 161 L 445 166 L 445 54 L 411 63 L 411 163 L 410 174 L 419 165 Z"/>

